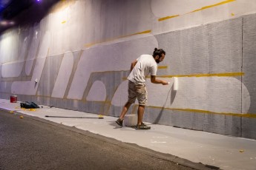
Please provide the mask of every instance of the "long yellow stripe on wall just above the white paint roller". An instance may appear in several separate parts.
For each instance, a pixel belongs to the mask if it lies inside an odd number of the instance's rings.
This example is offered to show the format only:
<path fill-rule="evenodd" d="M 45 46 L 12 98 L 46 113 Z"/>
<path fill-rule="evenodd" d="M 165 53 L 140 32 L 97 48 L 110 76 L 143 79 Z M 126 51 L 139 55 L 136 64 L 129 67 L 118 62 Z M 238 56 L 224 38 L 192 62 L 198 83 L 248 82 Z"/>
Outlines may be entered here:
<path fill-rule="evenodd" d="M 243 76 L 244 72 L 224 72 L 224 73 L 212 73 L 212 74 L 193 74 L 193 75 L 159 75 L 159 78 L 181 78 L 181 77 L 235 77 Z"/>

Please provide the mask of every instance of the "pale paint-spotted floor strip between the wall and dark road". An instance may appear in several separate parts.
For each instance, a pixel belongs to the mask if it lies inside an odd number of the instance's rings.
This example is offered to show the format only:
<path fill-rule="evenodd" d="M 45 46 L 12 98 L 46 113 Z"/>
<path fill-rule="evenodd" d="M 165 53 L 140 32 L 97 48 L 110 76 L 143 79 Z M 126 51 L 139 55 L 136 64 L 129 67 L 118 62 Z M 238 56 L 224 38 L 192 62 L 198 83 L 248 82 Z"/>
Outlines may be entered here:
<path fill-rule="evenodd" d="M 111 137 L 125 143 L 136 143 L 139 146 L 172 154 L 194 163 L 203 163 L 226 170 L 256 169 L 256 140 L 157 124 L 151 124 L 151 130 L 148 131 L 136 130 L 131 127 L 119 128 L 114 122 L 116 120 L 114 117 L 104 116 L 104 119 L 98 119 L 95 114 L 50 108 L 49 106 L 29 111 L 21 109 L 19 103 L 10 103 L 4 99 L 0 99 L 0 108 L 10 112 L 14 111 L 14 114 L 22 113 L 66 126 L 75 126 L 78 129 Z M 47 118 L 45 115 L 91 118 Z"/>

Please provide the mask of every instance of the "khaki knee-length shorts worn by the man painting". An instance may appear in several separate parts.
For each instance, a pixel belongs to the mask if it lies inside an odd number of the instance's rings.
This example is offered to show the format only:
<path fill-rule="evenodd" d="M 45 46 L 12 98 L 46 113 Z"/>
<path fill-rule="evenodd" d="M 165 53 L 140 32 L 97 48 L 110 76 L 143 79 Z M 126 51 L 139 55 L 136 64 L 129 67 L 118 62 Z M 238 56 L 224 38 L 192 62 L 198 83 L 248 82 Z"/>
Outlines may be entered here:
<path fill-rule="evenodd" d="M 128 83 L 128 102 L 135 103 L 138 99 L 139 104 L 145 106 L 148 101 L 148 92 L 145 88 L 145 84 L 134 84 L 134 82 L 129 81 Z"/>

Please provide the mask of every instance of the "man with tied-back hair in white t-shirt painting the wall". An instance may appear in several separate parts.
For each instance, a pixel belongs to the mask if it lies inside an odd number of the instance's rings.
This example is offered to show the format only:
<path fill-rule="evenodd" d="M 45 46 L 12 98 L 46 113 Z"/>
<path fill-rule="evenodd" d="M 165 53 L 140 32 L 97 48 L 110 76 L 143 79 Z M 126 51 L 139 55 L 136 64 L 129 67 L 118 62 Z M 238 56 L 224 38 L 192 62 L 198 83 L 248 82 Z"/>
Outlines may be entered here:
<path fill-rule="evenodd" d="M 116 120 L 119 126 L 122 126 L 125 114 L 132 103 L 139 101 L 138 107 L 138 120 L 137 129 L 151 129 L 150 126 L 145 125 L 142 122 L 145 105 L 148 101 L 147 89 L 145 87 L 145 81 L 147 75 L 151 74 L 151 83 L 153 84 L 168 84 L 167 81 L 163 81 L 156 78 L 157 75 L 157 64 L 159 64 L 165 58 L 165 51 L 163 49 L 154 49 L 152 55 L 140 55 L 140 58 L 131 63 L 131 73 L 128 76 L 128 101 L 122 108 L 120 117 Z"/>

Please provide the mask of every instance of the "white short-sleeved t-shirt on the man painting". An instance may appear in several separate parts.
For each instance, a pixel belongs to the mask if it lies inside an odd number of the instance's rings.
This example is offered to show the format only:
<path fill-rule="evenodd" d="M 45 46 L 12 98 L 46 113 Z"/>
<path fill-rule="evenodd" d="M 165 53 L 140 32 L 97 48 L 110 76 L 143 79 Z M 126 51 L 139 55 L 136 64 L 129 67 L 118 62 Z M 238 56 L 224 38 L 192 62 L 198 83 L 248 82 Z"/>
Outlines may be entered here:
<path fill-rule="evenodd" d="M 128 76 L 128 80 L 135 84 L 145 84 L 145 79 L 149 73 L 157 75 L 157 62 L 152 55 L 140 55 L 140 58 L 137 58 L 137 64 Z"/>

